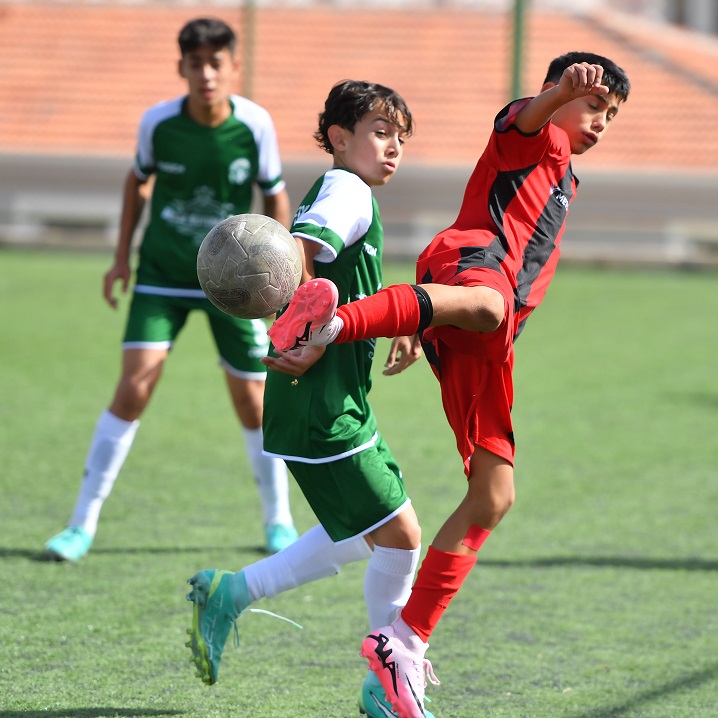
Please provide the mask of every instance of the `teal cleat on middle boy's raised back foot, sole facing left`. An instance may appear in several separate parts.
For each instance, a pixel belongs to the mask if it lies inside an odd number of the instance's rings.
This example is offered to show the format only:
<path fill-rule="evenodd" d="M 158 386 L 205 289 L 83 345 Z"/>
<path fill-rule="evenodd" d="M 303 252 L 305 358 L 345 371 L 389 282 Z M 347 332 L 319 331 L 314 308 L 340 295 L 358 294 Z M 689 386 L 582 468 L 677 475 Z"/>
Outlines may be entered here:
<path fill-rule="evenodd" d="M 244 575 L 240 574 L 238 589 L 235 588 L 235 591 L 239 590 L 240 596 L 235 604 L 231 587 L 234 576 L 231 571 L 208 569 L 196 573 L 187 582 L 192 586 L 187 600 L 192 601 L 194 607 L 192 628 L 187 631 L 190 640 L 185 645 L 192 650 L 191 660 L 197 666 L 197 675 L 208 686 L 217 682 L 222 652 L 233 626 L 239 642 L 235 621 L 251 603 Z M 237 605 L 241 608 L 238 609 Z"/>

